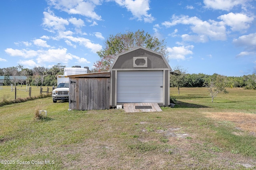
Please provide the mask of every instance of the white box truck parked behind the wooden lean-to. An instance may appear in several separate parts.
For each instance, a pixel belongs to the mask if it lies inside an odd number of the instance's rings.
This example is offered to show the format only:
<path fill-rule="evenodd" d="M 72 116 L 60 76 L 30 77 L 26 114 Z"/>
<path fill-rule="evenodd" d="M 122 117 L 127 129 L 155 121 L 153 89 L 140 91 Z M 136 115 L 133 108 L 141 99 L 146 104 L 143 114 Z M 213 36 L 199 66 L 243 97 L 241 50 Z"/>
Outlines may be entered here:
<path fill-rule="evenodd" d="M 58 86 L 52 91 L 52 101 L 54 103 L 57 100 L 68 101 L 69 98 L 69 78 L 68 75 L 73 74 L 85 74 L 89 73 L 88 67 L 84 68 L 77 68 L 77 67 L 70 67 L 64 68 L 64 75 L 58 75 L 57 77 L 57 84 Z"/>

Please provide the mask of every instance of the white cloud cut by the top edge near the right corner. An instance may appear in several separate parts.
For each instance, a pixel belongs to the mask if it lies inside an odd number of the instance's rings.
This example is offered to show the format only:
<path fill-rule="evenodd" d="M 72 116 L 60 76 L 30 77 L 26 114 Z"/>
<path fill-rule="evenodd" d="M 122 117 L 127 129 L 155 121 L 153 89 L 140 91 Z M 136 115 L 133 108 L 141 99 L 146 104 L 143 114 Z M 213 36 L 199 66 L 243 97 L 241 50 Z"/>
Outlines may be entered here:
<path fill-rule="evenodd" d="M 231 10 L 234 6 L 242 5 L 248 0 L 204 0 L 206 8 L 212 8 L 214 10 Z"/>

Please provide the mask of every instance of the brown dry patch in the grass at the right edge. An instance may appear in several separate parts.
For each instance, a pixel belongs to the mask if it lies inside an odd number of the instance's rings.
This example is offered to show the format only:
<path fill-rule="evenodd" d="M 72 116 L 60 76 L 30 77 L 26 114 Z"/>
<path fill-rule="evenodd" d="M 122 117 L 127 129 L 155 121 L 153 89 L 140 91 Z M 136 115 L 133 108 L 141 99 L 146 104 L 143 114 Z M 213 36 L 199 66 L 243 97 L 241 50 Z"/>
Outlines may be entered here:
<path fill-rule="evenodd" d="M 206 117 L 218 119 L 222 121 L 231 121 L 236 127 L 243 131 L 249 131 L 252 135 L 256 135 L 256 114 L 251 113 L 232 113 L 232 112 L 216 112 L 206 113 Z"/>

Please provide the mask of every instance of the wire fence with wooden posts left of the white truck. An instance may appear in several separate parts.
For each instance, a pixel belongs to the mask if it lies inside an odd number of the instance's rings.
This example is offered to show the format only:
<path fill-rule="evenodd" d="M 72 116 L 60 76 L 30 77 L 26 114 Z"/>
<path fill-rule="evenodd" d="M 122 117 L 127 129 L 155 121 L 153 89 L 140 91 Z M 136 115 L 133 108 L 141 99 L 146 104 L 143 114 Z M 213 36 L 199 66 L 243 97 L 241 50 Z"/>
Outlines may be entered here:
<path fill-rule="evenodd" d="M 52 93 L 50 88 L 47 86 L 3 86 L 0 84 L 0 102 L 11 101 L 17 99 L 31 98 L 40 96 L 42 94 Z"/>

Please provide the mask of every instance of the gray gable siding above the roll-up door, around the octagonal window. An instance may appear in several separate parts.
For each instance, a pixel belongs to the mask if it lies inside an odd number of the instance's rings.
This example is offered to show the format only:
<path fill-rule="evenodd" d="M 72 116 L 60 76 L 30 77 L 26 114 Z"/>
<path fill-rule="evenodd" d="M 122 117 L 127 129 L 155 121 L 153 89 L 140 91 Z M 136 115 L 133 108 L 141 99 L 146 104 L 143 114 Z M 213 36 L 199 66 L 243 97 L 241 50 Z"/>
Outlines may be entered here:
<path fill-rule="evenodd" d="M 150 51 L 146 51 L 144 49 L 137 49 L 135 51 L 131 51 L 130 53 L 126 53 L 124 55 L 120 55 L 118 60 L 114 64 L 112 69 L 131 69 L 133 67 L 133 57 L 148 57 L 148 69 L 154 68 L 167 68 L 168 66 L 162 59 L 162 56 L 152 53 Z M 145 68 L 136 68 L 136 70 L 145 69 Z"/>

